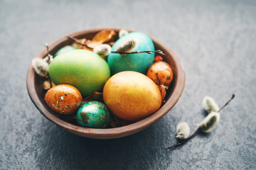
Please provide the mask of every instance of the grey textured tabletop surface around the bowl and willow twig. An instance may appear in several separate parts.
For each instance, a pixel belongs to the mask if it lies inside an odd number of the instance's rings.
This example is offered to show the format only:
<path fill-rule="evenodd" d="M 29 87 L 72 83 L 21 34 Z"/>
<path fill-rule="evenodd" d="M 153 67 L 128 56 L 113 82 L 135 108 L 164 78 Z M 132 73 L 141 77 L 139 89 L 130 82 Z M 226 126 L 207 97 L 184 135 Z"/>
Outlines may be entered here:
<path fill-rule="evenodd" d="M 255 169 L 255 1 L 0 0 L 0 169 Z M 183 62 L 186 86 L 176 106 L 146 130 L 116 140 L 75 136 L 50 123 L 26 90 L 31 60 L 44 42 L 76 30 L 142 31 Z M 204 96 L 219 105 L 218 125 L 173 151 L 176 125 L 196 129 Z"/>

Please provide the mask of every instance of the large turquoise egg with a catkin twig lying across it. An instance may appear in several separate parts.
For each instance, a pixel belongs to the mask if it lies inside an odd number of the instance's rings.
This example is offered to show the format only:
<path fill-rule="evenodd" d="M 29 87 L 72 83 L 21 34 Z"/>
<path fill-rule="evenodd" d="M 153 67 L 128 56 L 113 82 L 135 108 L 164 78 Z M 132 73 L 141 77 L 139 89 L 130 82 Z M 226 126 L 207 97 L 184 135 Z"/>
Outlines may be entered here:
<path fill-rule="evenodd" d="M 119 38 L 112 46 L 112 51 L 117 51 L 117 47 L 120 43 L 129 38 L 137 38 L 138 45 L 132 50 L 134 51 L 154 51 L 154 43 L 148 35 L 144 33 L 132 32 Z M 129 55 L 119 55 L 116 53 L 110 53 L 107 57 L 107 63 L 110 65 L 111 74 L 123 71 L 135 71 L 142 74 L 146 74 L 149 66 L 154 62 L 155 54 L 137 53 Z"/>

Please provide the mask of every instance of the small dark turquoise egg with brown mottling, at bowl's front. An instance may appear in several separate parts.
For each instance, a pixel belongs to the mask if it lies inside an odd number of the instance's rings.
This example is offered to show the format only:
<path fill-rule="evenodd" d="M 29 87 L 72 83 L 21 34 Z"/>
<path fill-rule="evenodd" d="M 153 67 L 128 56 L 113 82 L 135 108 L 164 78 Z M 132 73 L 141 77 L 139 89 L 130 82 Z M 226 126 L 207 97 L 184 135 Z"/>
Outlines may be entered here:
<path fill-rule="evenodd" d="M 76 119 L 78 125 L 86 128 L 107 128 L 110 111 L 99 101 L 89 101 L 78 109 Z"/>

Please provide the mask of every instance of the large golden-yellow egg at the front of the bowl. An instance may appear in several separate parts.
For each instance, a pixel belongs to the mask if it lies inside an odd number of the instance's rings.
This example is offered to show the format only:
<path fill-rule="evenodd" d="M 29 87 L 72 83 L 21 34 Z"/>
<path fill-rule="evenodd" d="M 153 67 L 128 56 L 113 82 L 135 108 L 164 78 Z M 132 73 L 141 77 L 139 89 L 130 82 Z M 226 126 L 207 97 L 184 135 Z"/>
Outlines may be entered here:
<path fill-rule="evenodd" d="M 161 106 L 161 94 L 154 81 L 132 71 L 110 77 L 103 89 L 103 99 L 110 111 L 124 120 L 142 120 Z"/>

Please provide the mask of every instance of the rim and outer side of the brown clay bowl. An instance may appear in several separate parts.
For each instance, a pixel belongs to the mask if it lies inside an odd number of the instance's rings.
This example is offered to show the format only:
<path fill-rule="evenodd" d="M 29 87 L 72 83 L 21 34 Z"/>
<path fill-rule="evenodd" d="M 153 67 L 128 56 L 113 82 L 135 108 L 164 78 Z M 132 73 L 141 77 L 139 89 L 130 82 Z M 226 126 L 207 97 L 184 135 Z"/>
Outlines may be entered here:
<path fill-rule="evenodd" d="M 79 35 L 85 35 L 88 33 L 97 33 L 100 30 L 106 30 L 106 29 L 111 29 L 115 31 L 126 29 L 129 32 L 137 31 L 137 30 L 129 30 L 127 28 L 92 28 L 89 30 L 78 30 L 68 35 L 72 37 L 78 37 Z M 153 40 L 154 44 L 157 44 L 163 47 L 163 49 L 165 49 L 166 51 L 168 51 L 172 59 L 174 60 L 174 64 L 176 65 L 176 85 L 174 86 L 174 91 L 172 92 L 171 96 L 166 101 L 166 103 L 164 103 L 164 105 L 161 106 L 161 108 L 159 108 L 158 111 L 149 115 L 143 120 L 139 120 L 136 123 L 125 125 L 119 128 L 107 128 L 107 129 L 83 128 L 78 125 L 73 125 L 71 123 L 65 122 L 64 120 L 61 120 L 60 118 L 56 117 L 55 115 L 47 111 L 46 108 L 41 103 L 39 96 L 36 93 L 36 83 L 35 83 L 36 73 L 33 70 L 32 64 L 30 64 L 30 67 L 28 68 L 28 74 L 26 79 L 28 95 L 31 98 L 31 101 L 36 106 L 36 108 L 38 108 L 38 111 L 45 118 L 50 120 L 52 123 L 55 123 L 55 125 L 58 125 L 60 128 L 64 128 L 69 132 L 73 132 L 76 135 L 80 135 L 83 137 L 90 137 L 90 138 L 97 138 L 97 139 L 113 139 L 113 138 L 124 137 L 127 135 L 132 135 L 135 132 L 144 130 L 145 128 L 149 127 L 149 125 L 155 123 L 157 120 L 159 120 L 164 115 L 166 115 L 166 113 L 168 113 L 171 110 L 171 108 L 174 107 L 178 99 L 181 97 L 181 94 L 185 86 L 185 72 L 183 69 L 183 64 L 179 60 L 176 53 L 173 50 L 171 50 L 171 48 L 161 44 L 161 42 L 159 42 L 158 40 L 152 38 L 151 36 L 149 37 L 151 38 L 151 40 Z M 60 45 L 61 42 L 64 42 L 67 40 L 68 38 L 65 38 L 63 36 L 61 38 L 54 40 L 53 42 L 50 42 L 48 45 L 49 51 L 53 50 L 55 47 Z M 47 51 L 46 51 L 46 48 L 44 48 L 43 50 L 38 52 L 34 58 L 36 57 L 43 58 L 44 56 L 46 56 L 46 54 L 47 54 Z"/>

